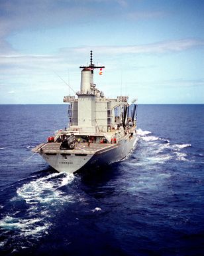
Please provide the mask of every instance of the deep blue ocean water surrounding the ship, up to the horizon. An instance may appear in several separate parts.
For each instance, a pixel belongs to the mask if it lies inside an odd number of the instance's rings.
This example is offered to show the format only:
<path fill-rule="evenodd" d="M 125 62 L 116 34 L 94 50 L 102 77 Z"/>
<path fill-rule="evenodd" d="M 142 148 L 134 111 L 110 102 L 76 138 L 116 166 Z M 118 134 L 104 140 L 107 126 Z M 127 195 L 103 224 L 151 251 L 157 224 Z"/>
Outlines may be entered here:
<path fill-rule="evenodd" d="M 139 105 L 131 156 L 85 176 L 31 149 L 66 105 L 1 105 L 1 255 L 204 255 L 204 105 Z"/>

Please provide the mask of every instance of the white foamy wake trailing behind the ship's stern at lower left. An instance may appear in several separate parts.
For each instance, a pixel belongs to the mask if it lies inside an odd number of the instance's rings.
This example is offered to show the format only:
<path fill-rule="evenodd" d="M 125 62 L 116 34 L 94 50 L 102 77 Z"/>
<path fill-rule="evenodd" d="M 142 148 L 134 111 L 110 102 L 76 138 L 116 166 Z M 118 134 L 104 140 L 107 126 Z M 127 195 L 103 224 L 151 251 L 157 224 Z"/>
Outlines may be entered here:
<path fill-rule="evenodd" d="M 8 212 L 0 220 L 1 229 L 15 232 L 17 237 L 42 236 L 52 222 L 53 211 L 62 203 L 73 202 L 62 187 L 74 180 L 74 174 L 54 173 L 28 182 L 17 189 L 17 196 L 10 199 L 15 213 Z"/>

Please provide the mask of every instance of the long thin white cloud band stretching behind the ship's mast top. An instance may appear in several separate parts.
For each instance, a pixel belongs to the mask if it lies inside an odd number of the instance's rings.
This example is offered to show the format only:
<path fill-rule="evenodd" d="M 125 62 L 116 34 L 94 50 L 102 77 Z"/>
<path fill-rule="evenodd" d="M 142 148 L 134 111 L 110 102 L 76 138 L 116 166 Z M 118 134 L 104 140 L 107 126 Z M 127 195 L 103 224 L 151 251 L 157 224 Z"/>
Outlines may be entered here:
<path fill-rule="evenodd" d="M 13 75 L 27 74 L 27 72 L 42 74 L 46 70 L 58 72 L 58 70 L 72 69 L 76 68 L 76 63 L 78 64 L 81 60 L 81 54 L 87 57 L 90 49 L 98 56 L 107 55 L 109 59 L 114 59 L 121 55 L 130 55 L 131 57 L 138 54 L 163 55 L 166 53 L 178 53 L 203 46 L 204 40 L 201 39 L 181 39 L 146 45 L 69 47 L 60 49 L 56 55 L 0 55 L 0 70 L 1 74 L 4 73 L 5 76 L 9 76 L 11 73 Z"/>

